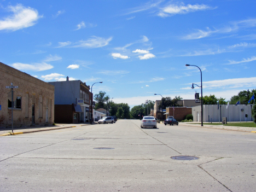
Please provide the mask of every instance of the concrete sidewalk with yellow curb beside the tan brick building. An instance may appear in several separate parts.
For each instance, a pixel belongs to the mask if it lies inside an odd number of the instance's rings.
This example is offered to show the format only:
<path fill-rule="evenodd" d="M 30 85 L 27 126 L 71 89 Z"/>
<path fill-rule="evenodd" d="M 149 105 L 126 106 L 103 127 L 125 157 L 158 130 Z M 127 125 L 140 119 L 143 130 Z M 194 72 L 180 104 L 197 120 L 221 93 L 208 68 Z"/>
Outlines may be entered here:
<path fill-rule="evenodd" d="M 95 125 L 97 123 L 92 123 Z M 50 130 L 58 130 L 58 129 L 66 129 L 71 127 L 80 127 L 91 125 L 90 123 L 80 123 L 80 124 L 56 124 L 49 126 L 31 126 L 31 127 L 13 127 L 13 133 L 10 128 L 0 128 L 0 136 L 8 136 L 8 135 L 18 135 L 24 133 L 33 133 L 39 131 L 50 131 Z"/>

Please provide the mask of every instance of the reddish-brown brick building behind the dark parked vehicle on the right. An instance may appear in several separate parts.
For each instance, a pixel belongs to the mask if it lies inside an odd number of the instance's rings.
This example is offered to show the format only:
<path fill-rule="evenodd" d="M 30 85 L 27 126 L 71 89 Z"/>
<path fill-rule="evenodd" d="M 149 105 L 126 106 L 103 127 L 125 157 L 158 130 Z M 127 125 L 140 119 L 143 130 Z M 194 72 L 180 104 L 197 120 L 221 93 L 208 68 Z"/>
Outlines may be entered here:
<path fill-rule="evenodd" d="M 186 115 L 192 114 L 191 107 L 174 107 L 174 111 L 172 107 L 166 108 L 166 117 L 173 116 L 177 121 L 182 121 L 185 119 Z"/>

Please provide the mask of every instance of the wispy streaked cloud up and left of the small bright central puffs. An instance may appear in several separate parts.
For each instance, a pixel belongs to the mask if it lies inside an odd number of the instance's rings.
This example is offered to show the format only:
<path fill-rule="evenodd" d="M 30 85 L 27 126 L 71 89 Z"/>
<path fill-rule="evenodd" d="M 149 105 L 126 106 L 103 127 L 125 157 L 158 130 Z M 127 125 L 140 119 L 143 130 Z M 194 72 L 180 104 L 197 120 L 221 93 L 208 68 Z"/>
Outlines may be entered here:
<path fill-rule="evenodd" d="M 112 37 L 109 37 L 108 39 L 102 38 L 102 37 L 96 37 L 92 36 L 88 40 L 80 40 L 79 42 L 75 43 L 77 45 L 74 45 L 74 48 L 100 48 L 102 46 L 106 46 L 109 44 L 109 42 L 112 40 Z"/>

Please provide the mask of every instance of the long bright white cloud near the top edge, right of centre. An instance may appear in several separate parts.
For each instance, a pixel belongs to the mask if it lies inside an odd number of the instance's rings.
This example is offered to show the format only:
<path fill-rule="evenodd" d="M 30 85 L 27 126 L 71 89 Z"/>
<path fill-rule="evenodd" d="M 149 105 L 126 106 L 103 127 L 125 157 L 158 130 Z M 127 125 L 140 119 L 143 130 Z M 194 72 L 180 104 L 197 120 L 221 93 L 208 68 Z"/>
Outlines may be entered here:
<path fill-rule="evenodd" d="M 187 14 L 190 12 L 195 12 L 195 11 L 201 11 L 201 10 L 206 10 L 206 9 L 212 9 L 208 5 L 204 4 L 195 4 L 195 5 L 167 5 L 166 7 L 162 8 L 158 16 L 161 17 L 166 17 L 166 16 L 171 16 L 171 15 L 176 15 L 176 14 Z"/>

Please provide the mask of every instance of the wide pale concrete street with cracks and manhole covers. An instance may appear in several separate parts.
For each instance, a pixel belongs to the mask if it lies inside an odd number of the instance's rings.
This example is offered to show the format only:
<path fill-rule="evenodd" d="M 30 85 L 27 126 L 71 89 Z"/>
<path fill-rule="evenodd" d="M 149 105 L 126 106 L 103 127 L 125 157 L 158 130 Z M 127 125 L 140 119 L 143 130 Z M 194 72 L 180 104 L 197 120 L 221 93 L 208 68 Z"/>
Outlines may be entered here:
<path fill-rule="evenodd" d="M 0 144 L 0 191 L 256 189 L 256 133 L 249 131 L 141 129 L 139 120 L 118 120 L 3 136 Z"/>

